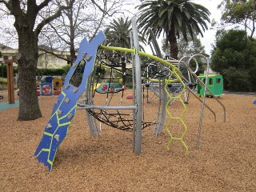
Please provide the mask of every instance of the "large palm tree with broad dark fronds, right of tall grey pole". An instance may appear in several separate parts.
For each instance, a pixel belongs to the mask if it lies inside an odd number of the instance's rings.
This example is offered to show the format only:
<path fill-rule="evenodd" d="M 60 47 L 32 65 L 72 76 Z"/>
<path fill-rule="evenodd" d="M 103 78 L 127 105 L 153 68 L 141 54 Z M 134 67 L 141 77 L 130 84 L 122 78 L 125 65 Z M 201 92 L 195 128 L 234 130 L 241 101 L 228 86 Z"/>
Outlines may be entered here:
<path fill-rule="evenodd" d="M 143 34 L 152 28 L 154 35 L 159 37 L 162 31 L 166 41 L 170 43 L 170 57 L 178 58 L 177 38 L 183 35 L 188 41 L 187 34 L 194 38 L 208 29 L 206 22 L 210 22 L 210 11 L 190 0 L 142 0 L 139 5 L 140 15 L 138 28 Z"/>

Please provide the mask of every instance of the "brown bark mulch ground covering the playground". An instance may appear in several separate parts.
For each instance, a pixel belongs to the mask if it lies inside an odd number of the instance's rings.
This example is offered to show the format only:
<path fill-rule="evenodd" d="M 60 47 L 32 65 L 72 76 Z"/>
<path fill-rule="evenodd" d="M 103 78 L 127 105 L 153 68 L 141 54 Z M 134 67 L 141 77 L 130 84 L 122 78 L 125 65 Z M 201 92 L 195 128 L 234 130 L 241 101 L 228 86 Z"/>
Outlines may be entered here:
<path fill-rule="evenodd" d="M 0 111 L 0 191 L 256 191 L 255 96 L 223 95 L 226 122 L 218 102 L 206 98 L 217 122 L 205 108 L 198 150 L 201 103 L 190 98 L 184 115 L 188 154 L 179 141 L 166 150 L 168 123 L 158 137 L 152 134 L 154 126 L 142 130 L 142 154 L 137 156 L 132 132 L 103 125 L 100 137 L 90 136 L 85 111 L 78 110 L 49 172 L 34 150 L 55 99 L 40 97 L 42 118 L 30 122 L 17 121 L 18 108 Z M 174 102 L 170 110 L 181 107 Z M 156 109 L 154 102 L 145 104 L 146 118 L 154 117 Z"/>

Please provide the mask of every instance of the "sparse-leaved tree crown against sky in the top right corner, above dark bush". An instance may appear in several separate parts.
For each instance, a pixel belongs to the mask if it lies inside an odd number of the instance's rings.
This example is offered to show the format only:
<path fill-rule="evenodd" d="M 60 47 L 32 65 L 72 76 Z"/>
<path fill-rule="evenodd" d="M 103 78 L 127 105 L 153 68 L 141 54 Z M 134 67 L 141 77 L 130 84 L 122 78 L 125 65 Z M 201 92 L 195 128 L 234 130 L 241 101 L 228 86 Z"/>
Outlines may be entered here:
<path fill-rule="evenodd" d="M 222 25 L 233 24 L 242 25 L 252 38 L 256 24 L 256 1 L 255 0 L 223 0 L 218 5 L 222 10 Z"/>

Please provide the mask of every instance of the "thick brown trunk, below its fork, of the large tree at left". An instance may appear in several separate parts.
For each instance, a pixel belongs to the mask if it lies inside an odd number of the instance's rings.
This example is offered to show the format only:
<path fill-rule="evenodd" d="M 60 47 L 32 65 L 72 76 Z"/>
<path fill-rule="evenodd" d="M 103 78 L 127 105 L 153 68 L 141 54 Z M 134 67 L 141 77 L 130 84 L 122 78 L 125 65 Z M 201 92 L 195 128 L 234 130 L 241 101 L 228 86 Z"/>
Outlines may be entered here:
<path fill-rule="evenodd" d="M 18 54 L 18 121 L 30 121 L 42 117 L 36 86 L 38 38 L 24 29 L 18 31 Z"/>

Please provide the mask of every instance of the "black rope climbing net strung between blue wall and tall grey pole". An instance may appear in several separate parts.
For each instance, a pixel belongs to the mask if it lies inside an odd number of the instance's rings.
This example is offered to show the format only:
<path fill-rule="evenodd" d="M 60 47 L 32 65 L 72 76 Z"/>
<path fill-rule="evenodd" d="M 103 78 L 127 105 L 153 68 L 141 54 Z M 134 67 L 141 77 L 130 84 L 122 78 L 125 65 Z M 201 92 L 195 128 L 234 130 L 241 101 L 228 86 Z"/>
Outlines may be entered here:
<path fill-rule="evenodd" d="M 88 108 L 87 112 L 98 121 L 119 130 L 133 130 L 134 113 L 126 109 L 133 100 L 125 99 L 126 83 L 134 84 L 132 53 L 118 50 L 101 50 L 96 58 L 96 66 L 90 78 L 90 91 L 86 93 L 86 103 L 91 106 L 106 106 L 108 109 Z M 121 83 L 120 83 L 121 82 Z M 120 86 L 121 84 L 121 86 Z M 141 91 L 141 87 L 134 87 Z M 105 101 L 98 99 L 98 94 L 106 94 Z M 82 106 L 80 104 L 80 106 Z M 109 110 L 116 106 L 114 110 Z M 122 109 L 124 107 L 124 109 Z M 142 130 L 157 122 L 142 118 Z"/>

